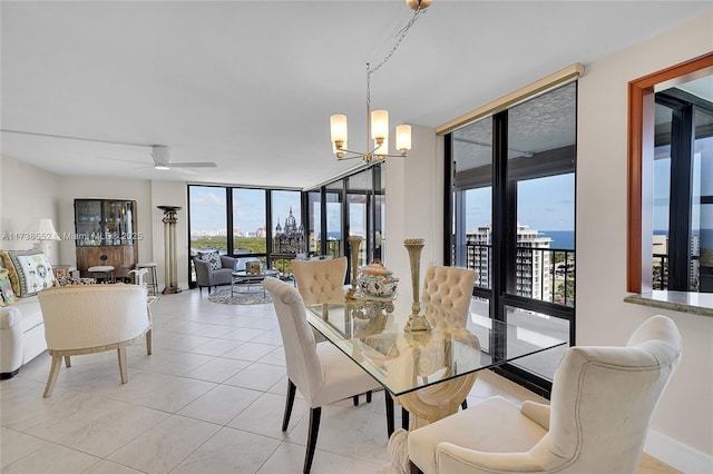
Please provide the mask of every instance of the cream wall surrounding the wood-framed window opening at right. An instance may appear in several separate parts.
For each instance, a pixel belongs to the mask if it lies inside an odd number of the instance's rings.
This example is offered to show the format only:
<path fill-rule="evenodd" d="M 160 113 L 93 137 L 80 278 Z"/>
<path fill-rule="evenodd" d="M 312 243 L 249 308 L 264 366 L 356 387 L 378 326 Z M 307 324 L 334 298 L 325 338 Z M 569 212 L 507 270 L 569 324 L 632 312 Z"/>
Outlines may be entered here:
<path fill-rule="evenodd" d="M 627 83 L 713 50 L 713 14 L 592 65 L 579 80 L 577 343 L 624 344 L 654 314 L 683 335 L 683 359 L 653 429 L 713 454 L 713 318 L 623 303 L 626 296 Z"/>

